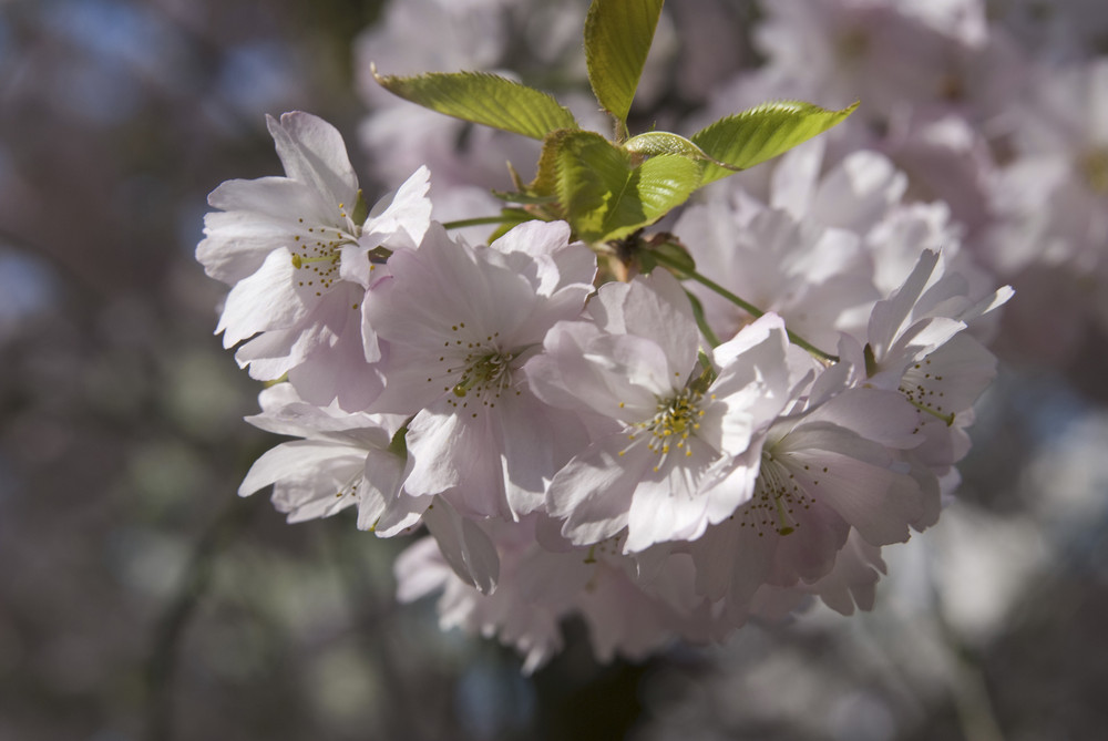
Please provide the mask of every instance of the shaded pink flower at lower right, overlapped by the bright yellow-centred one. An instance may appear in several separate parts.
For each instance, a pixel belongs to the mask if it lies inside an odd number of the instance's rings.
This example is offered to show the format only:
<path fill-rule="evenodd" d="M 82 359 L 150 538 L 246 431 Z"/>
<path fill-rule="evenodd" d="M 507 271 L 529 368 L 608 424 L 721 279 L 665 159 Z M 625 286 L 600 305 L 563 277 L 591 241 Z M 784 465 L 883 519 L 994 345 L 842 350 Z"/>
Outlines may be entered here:
<path fill-rule="evenodd" d="M 914 410 L 896 393 L 851 389 L 781 418 L 720 486 L 752 496 L 690 544 L 697 587 L 741 624 L 763 585 L 792 588 L 831 573 L 851 528 L 880 546 L 931 524 L 938 491 L 912 475 Z"/>

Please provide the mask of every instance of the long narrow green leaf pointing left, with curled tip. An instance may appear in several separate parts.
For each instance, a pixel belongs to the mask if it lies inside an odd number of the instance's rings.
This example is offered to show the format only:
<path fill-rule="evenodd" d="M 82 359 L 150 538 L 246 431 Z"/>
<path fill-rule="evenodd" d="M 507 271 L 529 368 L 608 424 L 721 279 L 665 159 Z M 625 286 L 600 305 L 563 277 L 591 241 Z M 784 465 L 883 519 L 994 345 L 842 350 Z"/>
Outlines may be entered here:
<path fill-rule="evenodd" d="M 577 128 L 568 109 L 550 94 L 495 74 L 429 72 L 399 78 L 370 70 L 394 95 L 463 121 L 538 140 L 557 128 Z"/>

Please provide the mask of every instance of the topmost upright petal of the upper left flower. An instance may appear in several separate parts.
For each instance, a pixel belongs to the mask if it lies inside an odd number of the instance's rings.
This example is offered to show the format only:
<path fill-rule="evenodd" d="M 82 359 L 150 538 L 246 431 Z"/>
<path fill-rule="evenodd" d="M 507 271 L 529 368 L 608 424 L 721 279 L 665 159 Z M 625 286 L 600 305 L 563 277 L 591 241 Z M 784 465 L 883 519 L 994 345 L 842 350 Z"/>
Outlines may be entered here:
<path fill-rule="evenodd" d="M 309 185 L 329 204 L 355 207 L 358 177 L 335 126 L 301 111 L 283 114 L 279 123 L 267 115 L 266 125 L 286 175 Z"/>

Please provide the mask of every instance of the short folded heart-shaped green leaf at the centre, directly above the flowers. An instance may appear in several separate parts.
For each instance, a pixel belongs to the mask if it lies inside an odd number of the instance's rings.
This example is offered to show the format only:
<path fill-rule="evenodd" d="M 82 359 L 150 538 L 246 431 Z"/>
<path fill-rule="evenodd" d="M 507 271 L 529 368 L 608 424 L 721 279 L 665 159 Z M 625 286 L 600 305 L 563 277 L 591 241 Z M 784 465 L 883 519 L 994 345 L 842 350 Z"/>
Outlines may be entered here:
<path fill-rule="evenodd" d="M 619 239 L 685 203 L 700 183 L 696 162 L 664 154 L 634 165 L 599 134 L 574 132 L 557 147 L 556 192 L 564 217 L 586 241 Z"/>

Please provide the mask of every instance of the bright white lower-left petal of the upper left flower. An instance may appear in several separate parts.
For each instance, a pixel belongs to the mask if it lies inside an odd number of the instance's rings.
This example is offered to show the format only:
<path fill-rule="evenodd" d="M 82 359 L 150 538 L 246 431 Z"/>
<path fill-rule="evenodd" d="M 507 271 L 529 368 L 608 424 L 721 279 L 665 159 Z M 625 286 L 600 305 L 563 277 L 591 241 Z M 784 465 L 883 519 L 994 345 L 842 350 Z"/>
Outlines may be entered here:
<path fill-rule="evenodd" d="M 230 289 L 215 330 L 224 333 L 223 347 L 232 348 L 258 332 L 291 327 L 308 313 L 293 289 L 291 259 L 287 249 L 275 249 L 257 272 Z"/>

